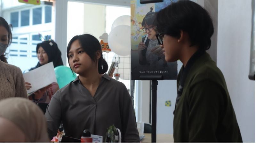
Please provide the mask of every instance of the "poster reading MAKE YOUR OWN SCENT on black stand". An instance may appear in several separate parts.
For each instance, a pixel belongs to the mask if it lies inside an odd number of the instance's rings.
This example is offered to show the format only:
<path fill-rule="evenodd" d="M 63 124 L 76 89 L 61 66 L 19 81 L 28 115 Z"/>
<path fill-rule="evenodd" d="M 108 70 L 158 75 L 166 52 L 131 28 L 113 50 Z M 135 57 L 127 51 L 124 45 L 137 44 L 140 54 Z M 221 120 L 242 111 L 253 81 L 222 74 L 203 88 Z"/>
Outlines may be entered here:
<path fill-rule="evenodd" d="M 177 79 L 177 62 L 166 62 L 154 26 L 155 14 L 177 0 L 140 4 L 131 0 L 131 72 L 132 80 L 140 76 L 163 75 L 163 79 Z"/>

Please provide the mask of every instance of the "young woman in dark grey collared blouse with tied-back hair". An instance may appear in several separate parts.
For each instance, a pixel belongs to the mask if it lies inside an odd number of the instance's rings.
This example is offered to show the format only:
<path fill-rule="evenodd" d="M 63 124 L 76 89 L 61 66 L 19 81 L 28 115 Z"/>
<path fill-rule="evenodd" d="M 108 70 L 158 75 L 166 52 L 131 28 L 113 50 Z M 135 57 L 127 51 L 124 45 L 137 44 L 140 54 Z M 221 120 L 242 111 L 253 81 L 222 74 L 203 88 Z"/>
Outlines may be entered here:
<path fill-rule="evenodd" d="M 77 78 L 57 91 L 45 117 L 52 138 L 60 123 L 66 136 L 79 138 L 84 129 L 105 138 L 115 125 L 122 142 L 140 142 L 131 97 L 123 83 L 104 74 L 108 64 L 99 41 L 90 34 L 76 35 L 68 43 L 68 64 Z"/>

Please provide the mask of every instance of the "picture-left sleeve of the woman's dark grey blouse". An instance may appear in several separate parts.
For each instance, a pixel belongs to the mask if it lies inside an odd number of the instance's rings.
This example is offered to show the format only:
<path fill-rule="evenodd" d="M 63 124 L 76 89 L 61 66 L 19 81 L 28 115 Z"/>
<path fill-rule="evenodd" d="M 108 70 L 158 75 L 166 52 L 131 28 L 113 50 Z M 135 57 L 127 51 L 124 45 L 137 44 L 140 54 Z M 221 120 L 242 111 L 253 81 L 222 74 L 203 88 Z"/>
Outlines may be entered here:
<path fill-rule="evenodd" d="M 56 135 L 61 122 L 60 91 L 57 91 L 52 96 L 44 116 L 47 122 L 47 132 L 49 138 L 52 139 L 54 135 Z"/>

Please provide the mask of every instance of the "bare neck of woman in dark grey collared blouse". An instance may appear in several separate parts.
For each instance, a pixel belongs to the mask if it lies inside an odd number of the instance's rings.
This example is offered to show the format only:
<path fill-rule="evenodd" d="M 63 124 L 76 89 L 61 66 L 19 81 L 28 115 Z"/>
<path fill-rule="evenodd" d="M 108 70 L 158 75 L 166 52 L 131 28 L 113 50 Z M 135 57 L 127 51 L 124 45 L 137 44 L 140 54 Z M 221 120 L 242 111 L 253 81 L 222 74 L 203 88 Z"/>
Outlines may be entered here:
<path fill-rule="evenodd" d="M 81 84 L 87 89 L 92 89 L 94 87 L 98 87 L 100 84 L 101 74 L 98 72 L 98 68 L 91 69 L 86 72 L 87 74 L 79 75 L 78 78 Z"/>

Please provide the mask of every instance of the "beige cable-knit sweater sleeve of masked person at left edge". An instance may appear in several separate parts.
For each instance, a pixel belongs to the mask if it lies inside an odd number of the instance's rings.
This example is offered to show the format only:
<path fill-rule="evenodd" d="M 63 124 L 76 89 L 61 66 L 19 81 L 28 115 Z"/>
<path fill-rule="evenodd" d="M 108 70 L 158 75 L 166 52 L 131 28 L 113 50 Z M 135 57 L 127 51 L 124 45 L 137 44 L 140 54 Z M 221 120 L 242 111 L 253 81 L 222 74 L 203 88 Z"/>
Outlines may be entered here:
<path fill-rule="evenodd" d="M 28 99 L 27 90 L 23 74 L 20 68 L 16 69 L 16 81 L 15 81 L 15 97 L 24 97 Z"/>

